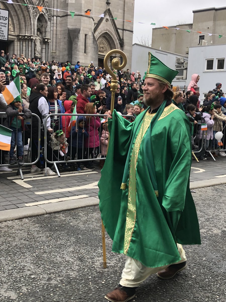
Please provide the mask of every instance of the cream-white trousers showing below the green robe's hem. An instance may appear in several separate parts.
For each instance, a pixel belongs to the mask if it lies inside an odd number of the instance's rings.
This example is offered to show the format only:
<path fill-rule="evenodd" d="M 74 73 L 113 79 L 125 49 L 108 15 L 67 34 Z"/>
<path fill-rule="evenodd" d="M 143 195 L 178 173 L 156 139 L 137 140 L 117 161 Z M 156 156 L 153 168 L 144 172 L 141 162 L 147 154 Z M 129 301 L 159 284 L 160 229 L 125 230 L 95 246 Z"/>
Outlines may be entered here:
<path fill-rule="evenodd" d="M 177 244 L 178 252 L 180 253 L 180 261 L 172 263 L 178 264 L 187 261 L 184 249 L 181 244 Z M 125 268 L 122 271 L 122 279 L 120 285 L 126 287 L 138 287 L 141 282 L 145 281 L 150 275 L 156 274 L 169 265 L 160 267 L 147 267 L 144 266 L 140 261 L 127 256 Z"/>

